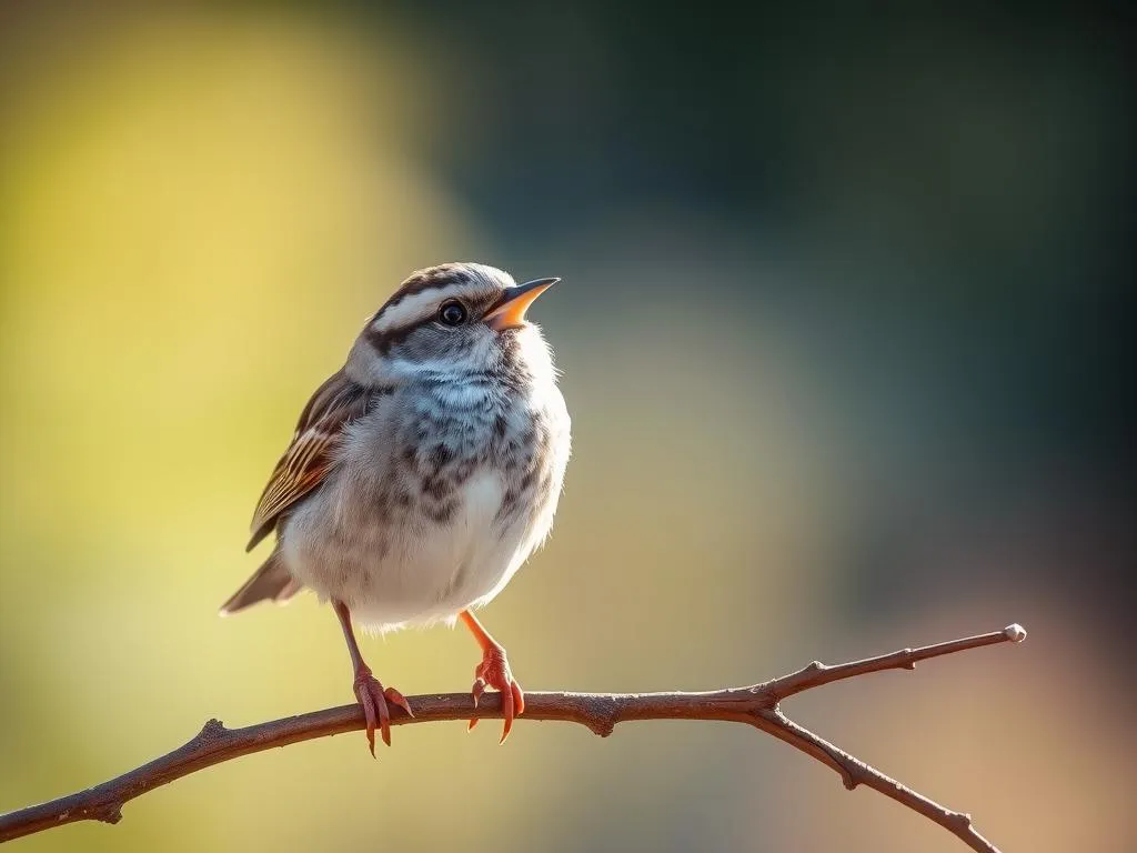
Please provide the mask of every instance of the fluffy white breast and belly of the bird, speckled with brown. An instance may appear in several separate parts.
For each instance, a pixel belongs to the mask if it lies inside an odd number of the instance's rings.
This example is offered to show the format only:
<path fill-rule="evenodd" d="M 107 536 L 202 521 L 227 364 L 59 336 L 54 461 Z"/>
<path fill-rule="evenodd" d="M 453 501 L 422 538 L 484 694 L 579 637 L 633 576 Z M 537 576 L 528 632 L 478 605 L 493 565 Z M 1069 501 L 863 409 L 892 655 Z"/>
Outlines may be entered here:
<path fill-rule="evenodd" d="M 429 390 L 384 398 L 354 424 L 341 465 L 290 524 L 293 573 L 375 627 L 445 619 L 500 591 L 548 532 L 567 462 L 555 387 L 553 405 Z"/>

